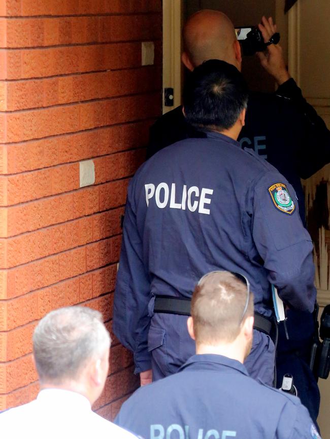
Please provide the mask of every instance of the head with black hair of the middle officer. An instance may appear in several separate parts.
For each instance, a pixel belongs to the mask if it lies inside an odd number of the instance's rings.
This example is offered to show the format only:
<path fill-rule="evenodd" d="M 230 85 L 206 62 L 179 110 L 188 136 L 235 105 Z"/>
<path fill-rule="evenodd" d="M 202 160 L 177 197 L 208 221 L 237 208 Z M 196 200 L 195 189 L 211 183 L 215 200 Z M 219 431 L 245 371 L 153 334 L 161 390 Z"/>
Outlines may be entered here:
<path fill-rule="evenodd" d="M 247 100 L 247 85 L 238 69 L 225 61 L 211 59 L 197 66 L 187 78 L 184 114 L 195 128 L 228 131 L 245 111 Z"/>

